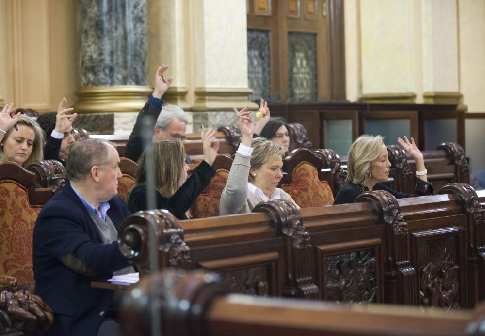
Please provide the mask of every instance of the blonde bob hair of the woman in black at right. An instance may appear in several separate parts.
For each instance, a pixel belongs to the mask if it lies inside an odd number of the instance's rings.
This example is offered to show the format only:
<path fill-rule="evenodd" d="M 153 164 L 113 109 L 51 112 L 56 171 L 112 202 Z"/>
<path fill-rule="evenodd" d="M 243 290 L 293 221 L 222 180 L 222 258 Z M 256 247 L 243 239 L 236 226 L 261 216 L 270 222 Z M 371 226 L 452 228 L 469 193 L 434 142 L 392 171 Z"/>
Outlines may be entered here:
<path fill-rule="evenodd" d="M 347 156 L 347 181 L 354 184 L 364 184 L 367 180 L 366 172 L 371 163 L 379 157 L 384 137 L 363 134 L 350 146 Z"/>

